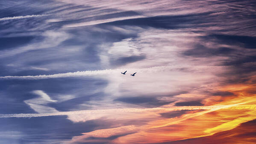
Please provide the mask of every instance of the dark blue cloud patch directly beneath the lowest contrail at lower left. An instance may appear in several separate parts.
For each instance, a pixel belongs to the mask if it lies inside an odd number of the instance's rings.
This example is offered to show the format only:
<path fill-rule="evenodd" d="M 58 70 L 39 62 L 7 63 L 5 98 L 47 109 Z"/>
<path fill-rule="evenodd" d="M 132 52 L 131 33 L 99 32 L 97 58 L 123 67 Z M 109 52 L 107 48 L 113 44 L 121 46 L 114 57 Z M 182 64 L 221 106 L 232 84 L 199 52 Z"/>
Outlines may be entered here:
<path fill-rule="evenodd" d="M 100 125 L 103 126 L 103 123 L 99 124 L 99 122 L 93 120 L 83 123 L 73 123 L 66 118 L 67 116 L 1 118 L 1 132 L 20 131 L 24 137 L 18 140 L 19 144 L 32 142 L 45 143 L 46 141 L 59 143 L 61 140 L 70 140 L 73 136 L 81 135 L 83 132 L 93 131 Z"/>

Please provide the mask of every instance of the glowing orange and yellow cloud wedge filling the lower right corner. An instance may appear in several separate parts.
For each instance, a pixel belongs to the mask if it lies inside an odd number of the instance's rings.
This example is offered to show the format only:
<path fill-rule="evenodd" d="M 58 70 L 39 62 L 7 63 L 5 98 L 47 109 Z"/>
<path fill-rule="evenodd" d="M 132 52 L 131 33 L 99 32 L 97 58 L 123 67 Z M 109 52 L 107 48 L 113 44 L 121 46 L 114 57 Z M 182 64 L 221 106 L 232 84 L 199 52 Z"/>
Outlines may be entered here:
<path fill-rule="evenodd" d="M 241 123 L 256 118 L 256 95 L 250 94 L 250 91 L 254 88 L 254 85 L 225 86 L 219 90 L 230 91 L 234 95 L 208 98 L 207 103 L 210 104 L 210 100 L 213 100 L 212 104 L 214 105 L 212 106 L 217 107 L 204 111 L 187 112 L 176 118 L 160 118 L 159 120 L 150 121 L 147 125 L 141 126 L 140 131 L 119 137 L 113 142 L 116 144 L 161 143 L 200 137 L 211 138 L 212 140 L 212 138 L 224 131 L 237 132 L 237 129 L 241 128 L 239 127 Z M 236 128 L 237 126 L 239 128 Z M 215 133 L 216 135 L 214 135 Z M 221 133 L 221 135 L 227 137 L 226 134 Z M 238 137 L 234 135 L 238 134 L 230 134 L 234 138 Z M 246 138 L 245 141 L 247 142 L 238 139 L 232 141 L 234 141 L 234 144 L 253 144 L 255 136 Z M 199 144 L 215 143 L 216 141 L 212 143 L 199 142 Z"/>

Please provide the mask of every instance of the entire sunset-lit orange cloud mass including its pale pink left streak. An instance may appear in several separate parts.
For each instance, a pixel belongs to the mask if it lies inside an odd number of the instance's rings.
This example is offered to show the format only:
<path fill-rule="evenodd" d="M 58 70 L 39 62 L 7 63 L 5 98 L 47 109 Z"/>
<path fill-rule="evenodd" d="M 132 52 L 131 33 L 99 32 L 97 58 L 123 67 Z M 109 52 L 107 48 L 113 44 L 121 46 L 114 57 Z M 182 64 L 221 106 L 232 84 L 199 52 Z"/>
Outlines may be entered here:
<path fill-rule="evenodd" d="M 110 123 L 114 123 L 114 128 L 82 133 L 80 136 L 73 137 L 70 143 L 79 141 L 107 142 L 109 144 L 163 142 L 216 144 L 214 139 L 218 139 L 223 144 L 253 144 L 256 138 L 254 130 L 249 129 L 251 122 L 248 121 L 253 120 L 252 126 L 256 126 L 254 120 L 256 119 L 256 94 L 251 93 L 255 88 L 250 83 L 216 88 L 217 91 L 227 91 L 231 95 L 207 97 L 202 101 L 205 106 L 173 106 L 171 104 L 149 109 L 90 111 L 87 113 L 93 117 L 105 118 Z M 189 97 L 189 94 L 186 97 Z M 170 113 L 174 111 L 176 113 Z M 169 116 L 162 115 L 168 112 Z M 81 114 L 82 118 L 83 114 Z M 175 116 L 173 116 L 174 114 Z M 90 115 L 87 116 L 90 117 Z M 76 115 L 73 116 L 76 117 Z M 115 125 L 115 123 L 119 123 L 119 125 Z M 240 132 L 239 130 L 244 131 Z M 246 136 L 247 132 L 252 136 Z"/>

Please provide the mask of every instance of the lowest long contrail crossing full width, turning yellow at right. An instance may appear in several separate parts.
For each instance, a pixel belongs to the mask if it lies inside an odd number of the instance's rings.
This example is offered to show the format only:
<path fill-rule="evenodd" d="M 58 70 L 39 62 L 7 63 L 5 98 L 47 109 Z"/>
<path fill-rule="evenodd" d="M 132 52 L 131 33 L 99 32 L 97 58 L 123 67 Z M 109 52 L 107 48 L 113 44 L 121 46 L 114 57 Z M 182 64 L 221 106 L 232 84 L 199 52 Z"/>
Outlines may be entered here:
<path fill-rule="evenodd" d="M 150 109 L 135 109 L 135 108 L 125 108 L 125 109 L 101 109 L 101 110 L 80 110 L 80 111 L 68 111 L 68 112 L 54 112 L 54 113 L 41 113 L 41 114 L 2 114 L 0 118 L 29 118 L 29 117 L 46 117 L 46 116 L 56 116 L 56 115 L 80 115 L 80 114 L 118 114 L 118 113 L 136 113 L 136 112 L 170 112 L 170 111 L 180 111 L 180 110 L 215 110 L 215 109 L 256 109 L 256 105 L 253 106 L 237 106 L 237 105 L 223 105 L 223 106 L 171 106 L 171 107 L 158 107 Z"/>

